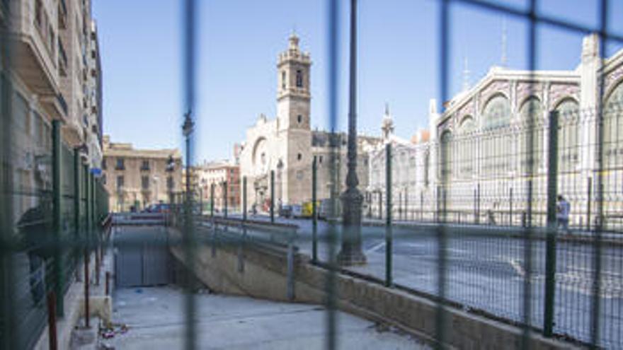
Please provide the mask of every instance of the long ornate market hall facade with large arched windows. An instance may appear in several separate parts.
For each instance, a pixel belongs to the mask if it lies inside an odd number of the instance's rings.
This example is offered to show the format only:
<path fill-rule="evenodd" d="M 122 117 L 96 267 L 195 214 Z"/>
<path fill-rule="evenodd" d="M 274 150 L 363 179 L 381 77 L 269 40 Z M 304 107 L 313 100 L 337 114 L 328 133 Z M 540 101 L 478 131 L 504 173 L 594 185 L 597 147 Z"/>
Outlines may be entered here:
<path fill-rule="evenodd" d="M 600 71 L 605 72 L 602 99 Z M 475 86 L 444 103 L 443 112 L 438 113 L 431 101 L 428 141 L 409 145 L 396 138 L 390 140 L 396 148 L 392 159 L 394 217 L 418 218 L 422 211 L 434 212 L 443 203 L 451 221 L 520 224 L 525 219 L 531 186 L 532 222 L 543 225 L 549 116 L 557 111 L 558 193 L 571 202 L 571 224 L 582 228 L 595 224 L 596 204 L 588 201 L 594 201 L 598 192 L 595 154 L 600 145 L 607 197 L 605 225 L 620 227 L 623 197 L 617 189 L 623 186 L 622 71 L 623 50 L 602 60 L 597 35 L 589 35 L 576 69 L 517 71 L 493 67 Z M 598 142 L 600 104 L 605 127 Z M 409 169 L 401 158 L 403 153 L 415 163 L 428 157 L 423 174 L 428 182 L 419 180 L 423 169 L 418 170 L 418 165 Z M 368 189 L 381 192 L 383 197 L 384 152 L 377 149 L 370 154 L 372 180 Z M 411 174 L 406 182 L 404 176 L 395 173 L 403 168 Z M 375 213 L 376 209 L 372 214 L 378 216 Z"/>

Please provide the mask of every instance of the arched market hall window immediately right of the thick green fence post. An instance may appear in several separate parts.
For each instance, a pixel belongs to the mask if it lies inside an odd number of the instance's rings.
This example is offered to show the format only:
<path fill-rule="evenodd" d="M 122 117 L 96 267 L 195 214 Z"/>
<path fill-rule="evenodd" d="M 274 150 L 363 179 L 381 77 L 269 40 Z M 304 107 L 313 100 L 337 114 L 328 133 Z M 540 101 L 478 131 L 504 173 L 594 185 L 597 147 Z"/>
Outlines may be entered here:
<path fill-rule="evenodd" d="M 575 170 L 579 161 L 579 110 L 578 103 L 572 98 L 566 98 L 556 107 L 559 112 L 558 168 L 561 172 Z"/>

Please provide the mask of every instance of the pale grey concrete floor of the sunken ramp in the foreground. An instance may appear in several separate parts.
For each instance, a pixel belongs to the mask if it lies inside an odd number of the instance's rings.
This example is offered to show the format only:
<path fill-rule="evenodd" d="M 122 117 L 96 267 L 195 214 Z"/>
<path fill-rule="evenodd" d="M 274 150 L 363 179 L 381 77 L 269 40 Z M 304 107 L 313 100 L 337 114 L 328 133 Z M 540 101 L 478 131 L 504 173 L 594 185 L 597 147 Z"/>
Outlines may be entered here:
<path fill-rule="evenodd" d="M 175 287 L 115 292 L 114 320 L 129 327 L 102 342 L 115 349 L 183 349 L 183 291 Z M 198 349 L 324 349 L 326 311 L 317 305 L 274 303 L 198 293 Z M 394 329 L 338 313 L 338 349 L 428 349 Z"/>

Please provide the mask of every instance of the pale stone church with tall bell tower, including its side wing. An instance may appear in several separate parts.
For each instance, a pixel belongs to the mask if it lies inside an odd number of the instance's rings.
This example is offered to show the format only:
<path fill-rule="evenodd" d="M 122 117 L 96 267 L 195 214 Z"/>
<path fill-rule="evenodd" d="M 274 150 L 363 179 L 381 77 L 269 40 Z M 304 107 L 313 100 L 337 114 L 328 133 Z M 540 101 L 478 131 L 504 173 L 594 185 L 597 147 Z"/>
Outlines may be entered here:
<path fill-rule="evenodd" d="M 241 146 L 240 173 L 247 177 L 247 203 L 258 209 L 270 205 L 270 174 L 275 174 L 275 205 L 302 204 L 311 199 L 311 164 L 318 164 L 318 199 L 330 197 L 333 183 L 343 189 L 346 164 L 344 134 L 313 131 L 310 128 L 309 53 L 299 48 L 299 38 L 290 37 L 289 47 L 278 56 L 277 117 L 258 117 L 246 131 Z M 374 137 L 358 137 L 360 187 L 367 186 L 367 145 Z M 335 163 L 335 166 L 332 164 Z M 332 169 L 340 169 L 333 172 Z"/>

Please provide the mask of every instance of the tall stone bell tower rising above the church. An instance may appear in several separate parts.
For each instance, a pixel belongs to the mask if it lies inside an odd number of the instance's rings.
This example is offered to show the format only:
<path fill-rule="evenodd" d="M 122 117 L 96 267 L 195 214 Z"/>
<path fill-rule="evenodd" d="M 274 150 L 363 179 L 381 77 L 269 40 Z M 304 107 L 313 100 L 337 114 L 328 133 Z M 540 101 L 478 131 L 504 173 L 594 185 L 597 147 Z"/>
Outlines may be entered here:
<path fill-rule="evenodd" d="M 299 48 L 299 37 L 292 33 L 289 47 L 279 54 L 277 63 L 277 117 L 279 130 L 309 130 L 310 101 L 308 52 Z"/>

